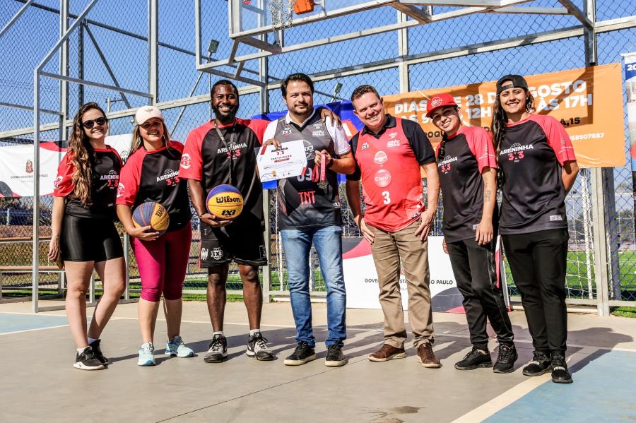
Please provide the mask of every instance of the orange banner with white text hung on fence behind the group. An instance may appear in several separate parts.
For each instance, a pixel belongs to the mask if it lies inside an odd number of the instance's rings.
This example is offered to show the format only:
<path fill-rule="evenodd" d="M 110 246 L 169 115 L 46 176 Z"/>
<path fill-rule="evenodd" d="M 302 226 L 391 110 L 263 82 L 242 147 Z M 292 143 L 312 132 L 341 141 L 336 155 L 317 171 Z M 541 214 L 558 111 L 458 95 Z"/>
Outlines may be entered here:
<path fill-rule="evenodd" d="M 539 114 L 558 119 L 572 138 L 577 162 L 583 167 L 625 165 L 623 76 L 620 64 L 526 76 Z M 426 102 L 449 93 L 461 107 L 464 123 L 490 127 L 495 104 L 495 81 L 384 96 L 387 112 L 422 126 L 435 146 L 442 133 L 426 117 Z"/>

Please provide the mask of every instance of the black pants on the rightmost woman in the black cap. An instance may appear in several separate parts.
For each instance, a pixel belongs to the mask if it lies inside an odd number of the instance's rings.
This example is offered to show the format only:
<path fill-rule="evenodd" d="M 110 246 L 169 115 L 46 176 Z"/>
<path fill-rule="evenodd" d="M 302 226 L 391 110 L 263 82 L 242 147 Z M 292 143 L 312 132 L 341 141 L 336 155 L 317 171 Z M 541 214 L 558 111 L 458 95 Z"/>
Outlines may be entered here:
<path fill-rule="evenodd" d="M 534 349 L 565 352 L 567 229 L 502 235 L 514 284 L 519 288 Z"/>

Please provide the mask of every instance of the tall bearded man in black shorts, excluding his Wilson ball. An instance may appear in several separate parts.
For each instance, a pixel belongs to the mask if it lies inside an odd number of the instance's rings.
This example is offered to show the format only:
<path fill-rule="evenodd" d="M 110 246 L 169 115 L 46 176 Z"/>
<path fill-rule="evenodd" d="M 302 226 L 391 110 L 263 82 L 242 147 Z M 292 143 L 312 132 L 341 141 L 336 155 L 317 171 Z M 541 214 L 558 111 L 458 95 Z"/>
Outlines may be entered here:
<path fill-rule="evenodd" d="M 230 261 L 235 261 L 249 320 L 247 355 L 271 360 L 273 352 L 260 332 L 263 300 L 259 266 L 266 266 L 267 258 L 263 196 L 254 153 L 269 122 L 237 119 L 239 93 L 230 81 L 215 83 L 211 96 L 215 119 L 189 133 L 179 170 L 179 177 L 188 179 L 190 198 L 201 219 L 199 263 L 208 269 L 207 302 L 214 333 L 204 359 L 218 363 L 228 357 L 223 335 L 225 282 Z M 207 194 L 220 184 L 235 186 L 242 193 L 243 210 L 235 220 L 220 222 L 206 209 Z"/>

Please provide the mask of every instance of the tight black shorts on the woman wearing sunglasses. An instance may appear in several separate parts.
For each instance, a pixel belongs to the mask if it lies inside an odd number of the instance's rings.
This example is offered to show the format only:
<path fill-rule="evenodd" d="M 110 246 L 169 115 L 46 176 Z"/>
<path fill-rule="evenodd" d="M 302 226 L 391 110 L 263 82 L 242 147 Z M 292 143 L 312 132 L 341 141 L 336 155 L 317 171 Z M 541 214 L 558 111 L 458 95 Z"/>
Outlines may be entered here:
<path fill-rule="evenodd" d="M 122 240 L 110 219 L 78 218 L 64 213 L 59 237 L 64 261 L 106 261 L 124 256 Z"/>

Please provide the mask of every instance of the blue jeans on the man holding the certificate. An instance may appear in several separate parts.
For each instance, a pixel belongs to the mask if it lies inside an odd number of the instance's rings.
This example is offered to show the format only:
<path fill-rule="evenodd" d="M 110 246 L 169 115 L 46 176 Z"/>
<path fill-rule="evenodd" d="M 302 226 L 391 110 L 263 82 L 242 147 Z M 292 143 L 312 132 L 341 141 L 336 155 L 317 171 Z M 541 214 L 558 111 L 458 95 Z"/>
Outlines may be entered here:
<path fill-rule="evenodd" d="M 296 342 L 314 347 L 310 301 L 309 255 L 312 243 L 318 253 L 320 271 L 327 290 L 327 328 L 329 345 L 343 345 L 346 333 L 346 292 L 342 273 L 342 228 L 326 226 L 307 229 L 281 230 L 285 263 L 287 263 L 289 292 L 296 323 Z"/>

